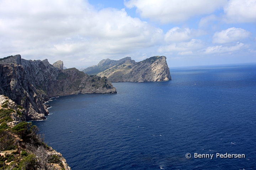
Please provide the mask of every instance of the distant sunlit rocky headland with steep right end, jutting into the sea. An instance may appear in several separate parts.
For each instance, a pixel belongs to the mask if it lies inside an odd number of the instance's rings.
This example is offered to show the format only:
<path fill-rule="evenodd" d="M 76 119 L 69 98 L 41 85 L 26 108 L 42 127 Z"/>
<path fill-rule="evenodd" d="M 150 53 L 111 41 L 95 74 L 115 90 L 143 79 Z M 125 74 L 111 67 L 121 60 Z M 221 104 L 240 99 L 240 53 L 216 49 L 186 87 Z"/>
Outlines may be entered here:
<path fill-rule="evenodd" d="M 85 73 L 97 73 L 100 77 L 105 76 L 111 82 L 171 80 L 165 56 L 154 56 L 140 62 L 135 62 L 130 57 L 119 61 L 106 59 L 102 60 L 97 66 L 89 67 L 83 71 Z"/>

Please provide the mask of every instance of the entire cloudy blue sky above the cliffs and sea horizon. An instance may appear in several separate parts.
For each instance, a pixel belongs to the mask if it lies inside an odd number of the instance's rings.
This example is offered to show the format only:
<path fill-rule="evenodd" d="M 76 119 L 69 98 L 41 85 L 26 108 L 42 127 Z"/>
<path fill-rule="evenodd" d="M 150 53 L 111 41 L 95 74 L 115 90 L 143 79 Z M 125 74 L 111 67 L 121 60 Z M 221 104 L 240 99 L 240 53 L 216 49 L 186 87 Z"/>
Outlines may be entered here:
<path fill-rule="evenodd" d="M 0 58 L 166 56 L 172 67 L 256 62 L 256 0 L 0 0 Z"/>

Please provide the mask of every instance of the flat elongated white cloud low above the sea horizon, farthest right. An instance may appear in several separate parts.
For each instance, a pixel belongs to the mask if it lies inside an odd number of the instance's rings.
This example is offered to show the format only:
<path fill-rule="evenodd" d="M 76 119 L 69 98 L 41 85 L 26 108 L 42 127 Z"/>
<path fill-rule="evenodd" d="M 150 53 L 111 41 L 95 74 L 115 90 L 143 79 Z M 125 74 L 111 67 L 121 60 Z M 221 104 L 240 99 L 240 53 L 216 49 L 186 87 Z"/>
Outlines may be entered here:
<path fill-rule="evenodd" d="M 222 45 L 217 45 L 217 46 L 211 46 L 207 47 L 206 49 L 203 50 L 204 53 L 207 54 L 212 54 L 212 53 L 225 53 L 225 52 L 235 52 L 239 51 L 242 49 L 248 48 L 247 45 L 237 42 L 235 46 L 222 46 Z"/>

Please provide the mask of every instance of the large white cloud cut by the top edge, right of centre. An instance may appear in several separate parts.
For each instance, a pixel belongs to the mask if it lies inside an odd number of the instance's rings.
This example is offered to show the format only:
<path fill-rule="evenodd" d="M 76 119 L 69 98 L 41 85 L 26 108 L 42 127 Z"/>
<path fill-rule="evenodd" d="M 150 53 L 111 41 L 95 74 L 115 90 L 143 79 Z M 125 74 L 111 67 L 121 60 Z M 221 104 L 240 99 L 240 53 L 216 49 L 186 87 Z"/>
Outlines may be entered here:
<path fill-rule="evenodd" d="M 136 7 L 143 18 L 161 23 L 180 23 L 196 16 L 210 14 L 227 0 L 124 0 L 128 8 Z"/>

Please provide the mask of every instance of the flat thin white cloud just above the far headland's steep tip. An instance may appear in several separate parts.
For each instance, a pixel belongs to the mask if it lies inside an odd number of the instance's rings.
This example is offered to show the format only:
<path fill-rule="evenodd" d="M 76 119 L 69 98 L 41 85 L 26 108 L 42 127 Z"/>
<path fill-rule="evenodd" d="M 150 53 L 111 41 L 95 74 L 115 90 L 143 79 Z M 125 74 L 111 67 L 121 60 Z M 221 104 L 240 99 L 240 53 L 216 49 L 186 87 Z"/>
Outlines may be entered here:
<path fill-rule="evenodd" d="M 202 40 L 192 39 L 189 42 L 172 43 L 166 46 L 160 46 L 158 52 L 188 52 L 193 50 L 199 50 L 204 47 Z"/>

